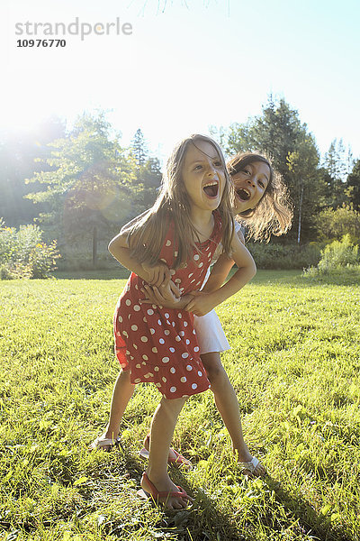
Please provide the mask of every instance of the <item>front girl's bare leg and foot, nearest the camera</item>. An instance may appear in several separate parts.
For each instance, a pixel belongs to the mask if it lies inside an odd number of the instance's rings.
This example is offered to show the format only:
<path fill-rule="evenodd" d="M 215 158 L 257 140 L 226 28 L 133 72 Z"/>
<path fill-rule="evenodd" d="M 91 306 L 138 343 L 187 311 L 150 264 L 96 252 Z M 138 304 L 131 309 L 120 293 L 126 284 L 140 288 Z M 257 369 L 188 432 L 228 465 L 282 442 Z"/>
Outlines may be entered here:
<path fill-rule="evenodd" d="M 177 492 L 178 488 L 167 473 L 167 456 L 175 424 L 186 399 L 161 399 L 154 413 L 150 431 L 150 454 L 148 457 L 148 479 L 155 485 L 157 491 Z M 144 491 L 149 491 L 146 479 L 141 481 Z M 170 496 L 163 501 L 168 509 L 183 509 L 189 499 Z"/>

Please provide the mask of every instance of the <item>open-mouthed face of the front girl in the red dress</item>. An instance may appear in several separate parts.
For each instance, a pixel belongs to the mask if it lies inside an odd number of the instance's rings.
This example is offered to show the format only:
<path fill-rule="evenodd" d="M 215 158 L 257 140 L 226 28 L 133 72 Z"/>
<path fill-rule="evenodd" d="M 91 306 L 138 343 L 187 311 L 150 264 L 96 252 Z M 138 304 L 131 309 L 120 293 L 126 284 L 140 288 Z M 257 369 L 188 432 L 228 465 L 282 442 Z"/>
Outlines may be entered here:
<path fill-rule="evenodd" d="M 210 142 L 200 140 L 188 145 L 182 177 L 192 210 L 212 212 L 220 205 L 225 171 L 218 151 Z"/>

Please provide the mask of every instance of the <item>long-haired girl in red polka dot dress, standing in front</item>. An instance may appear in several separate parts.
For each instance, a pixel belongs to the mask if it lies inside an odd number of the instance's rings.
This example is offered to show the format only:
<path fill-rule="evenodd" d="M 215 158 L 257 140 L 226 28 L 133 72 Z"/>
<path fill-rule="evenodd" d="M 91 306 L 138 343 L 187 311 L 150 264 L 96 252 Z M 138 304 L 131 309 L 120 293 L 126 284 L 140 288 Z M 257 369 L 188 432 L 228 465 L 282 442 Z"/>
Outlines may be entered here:
<path fill-rule="evenodd" d="M 206 305 L 202 310 L 210 311 L 229 298 L 256 272 L 251 255 L 233 234 L 229 190 L 219 145 L 208 137 L 192 135 L 175 147 L 168 160 L 154 206 L 130 222 L 109 245 L 112 255 L 132 271 L 114 314 L 115 352 L 122 369 L 115 386 L 129 394 L 130 378 L 131 384 L 153 382 L 162 394 L 151 423 L 148 468 L 141 487 L 146 496 L 169 509 L 182 509 L 191 500 L 167 474 L 177 417 L 189 396 L 210 387 L 193 312 L 186 307 L 193 303 L 192 291 L 200 288 L 219 243 L 225 253 L 231 253 L 238 271 L 202 300 Z M 164 296 L 174 293 L 177 306 L 142 302 L 148 284 L 155 291 L 160 288 Z M 129 398 L 123 397 L 124 404 Z"/>

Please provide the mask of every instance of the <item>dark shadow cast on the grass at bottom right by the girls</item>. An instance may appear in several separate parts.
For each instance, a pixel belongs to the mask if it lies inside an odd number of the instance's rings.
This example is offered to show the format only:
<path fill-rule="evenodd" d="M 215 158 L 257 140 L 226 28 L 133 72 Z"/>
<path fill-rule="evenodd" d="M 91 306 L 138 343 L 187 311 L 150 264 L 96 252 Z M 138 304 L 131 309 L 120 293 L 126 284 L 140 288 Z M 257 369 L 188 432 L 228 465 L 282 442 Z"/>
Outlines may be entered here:
<path fill-rule="evenodd" d="M 193 490 L 181 475 L 181 472 L 173 469 L 175 482 L 192 494 Z M 252 481 L 242 481 L 245 491 L 252 490 Z M 270 477 L 267 478 L 268 485 L 275 489 L 279 483 Z M 177 541 L 255 541 L 266 538 L 280 539 L 287 538 L 286 532 L 293 536 L 288 538 L 313 539 L 319 541 L 353 541 L 353 537 L 345 527 L 331 527 L 330 518 L 319 515 L 311 508 L 308 502 L 293 500 L 286 491 L 276 490 L 276 502 L 283 508 L 282 517 L 276 517 L 274 509 L 270 506 L 245 511 L 246 518 L 239 518 L 236 511 L 230 518 L 229 514 L 223 513 L 214 498 L 208 497 L 202 489 L 197 489 L 195 500 L 190 509 L 164 513 L 162 528 L 164 533 L 173 532 L 177 534 Z M 237 525 L 241 522 L 241 527 Z M 261 534 L 260 534 L 261 532 Z"/>

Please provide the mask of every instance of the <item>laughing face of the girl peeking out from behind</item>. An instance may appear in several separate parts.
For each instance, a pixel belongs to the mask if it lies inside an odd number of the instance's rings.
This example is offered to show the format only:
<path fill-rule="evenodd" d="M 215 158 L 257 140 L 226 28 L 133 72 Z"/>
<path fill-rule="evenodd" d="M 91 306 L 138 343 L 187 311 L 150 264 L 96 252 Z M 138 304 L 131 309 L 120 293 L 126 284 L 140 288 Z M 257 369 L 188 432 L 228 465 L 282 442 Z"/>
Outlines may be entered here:
<path fill-rule="evenodd" d="M 266 192 L 270 181 L 270 168 L 263 161 L 248 163 L 231 177 L 235 188 L 234 213 L 255 208 Z"/>

